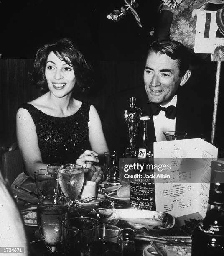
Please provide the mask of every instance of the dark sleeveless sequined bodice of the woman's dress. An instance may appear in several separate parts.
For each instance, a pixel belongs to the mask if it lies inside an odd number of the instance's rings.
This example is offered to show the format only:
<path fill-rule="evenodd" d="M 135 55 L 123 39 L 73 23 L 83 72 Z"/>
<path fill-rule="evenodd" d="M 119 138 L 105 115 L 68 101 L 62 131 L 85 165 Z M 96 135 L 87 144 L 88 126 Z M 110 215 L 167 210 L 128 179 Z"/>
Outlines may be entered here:
<path fill-rule="evenodd" d="M 75 163 L 85 150 L 91 149 L 88 102 L 82 102 L 79 110 L 67 117 L 47 115 L 29 103 L 20 107 L 28 110 L 33 118 L 43 163 Z"/>

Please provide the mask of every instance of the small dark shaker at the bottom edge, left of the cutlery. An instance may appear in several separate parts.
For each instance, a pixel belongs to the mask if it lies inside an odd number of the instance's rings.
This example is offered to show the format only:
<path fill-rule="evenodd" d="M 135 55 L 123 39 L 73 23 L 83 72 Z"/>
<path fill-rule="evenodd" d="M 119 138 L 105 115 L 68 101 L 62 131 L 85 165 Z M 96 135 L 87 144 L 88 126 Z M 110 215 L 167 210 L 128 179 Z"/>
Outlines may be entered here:
<path fill-rule="evenodd" d="M 124 256 L 135 255 L 134 231 L 131 228 L 123 229 Z"/>

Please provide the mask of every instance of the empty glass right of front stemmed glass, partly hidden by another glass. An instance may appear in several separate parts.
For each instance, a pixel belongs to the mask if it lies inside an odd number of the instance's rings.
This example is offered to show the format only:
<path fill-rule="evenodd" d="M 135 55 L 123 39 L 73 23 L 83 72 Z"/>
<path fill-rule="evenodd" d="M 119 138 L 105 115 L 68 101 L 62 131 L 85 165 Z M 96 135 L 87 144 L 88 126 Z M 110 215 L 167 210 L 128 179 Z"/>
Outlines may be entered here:
<path fill-rule="evenodd" d="M 63 225 L 63 244 L 67 256 L 80 256 L 81 233 L 84 228 L 96 228 L 98 220 L 87 217 L 66 219 Z"/>

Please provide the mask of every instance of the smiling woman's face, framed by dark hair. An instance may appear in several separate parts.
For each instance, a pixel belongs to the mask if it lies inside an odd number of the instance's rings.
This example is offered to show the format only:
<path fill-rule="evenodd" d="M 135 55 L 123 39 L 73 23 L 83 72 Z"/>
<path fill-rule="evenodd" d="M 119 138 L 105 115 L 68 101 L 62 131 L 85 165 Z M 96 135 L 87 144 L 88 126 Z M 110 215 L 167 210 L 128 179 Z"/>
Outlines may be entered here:
<path fill-rule="evenodd" d="M 45 77 L 51 93 L 60 98 L 68 95 L 76 82 L 73 67 L 59 59 L 53 51 L 47 58 Z"/>

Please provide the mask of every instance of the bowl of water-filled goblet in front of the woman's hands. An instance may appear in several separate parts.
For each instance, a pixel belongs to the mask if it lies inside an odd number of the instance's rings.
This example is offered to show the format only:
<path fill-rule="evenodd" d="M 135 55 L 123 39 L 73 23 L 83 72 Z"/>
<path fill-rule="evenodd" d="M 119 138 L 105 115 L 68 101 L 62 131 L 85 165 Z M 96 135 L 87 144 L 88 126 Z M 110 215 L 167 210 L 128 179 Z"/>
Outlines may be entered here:
<path fill-rule="evenodd" d="M 81 192 L 84 182 L 84 170 L 78 164 L 65 164 L 59 167 L 59 184 L 62 192 L 74 202 Z"/>

